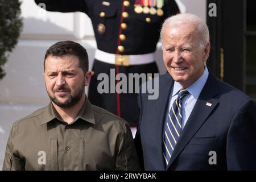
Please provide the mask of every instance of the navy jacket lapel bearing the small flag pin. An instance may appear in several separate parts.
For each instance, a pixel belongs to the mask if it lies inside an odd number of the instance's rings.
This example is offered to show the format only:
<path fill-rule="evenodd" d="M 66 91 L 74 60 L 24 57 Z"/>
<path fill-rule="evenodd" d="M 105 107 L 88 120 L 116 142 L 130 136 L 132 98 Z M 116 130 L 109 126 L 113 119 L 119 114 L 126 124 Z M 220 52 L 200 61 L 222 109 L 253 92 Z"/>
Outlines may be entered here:
<path fill-rule="evenodd" d="M 203 125 L 210 113 L 212 113 L 214 107 L 216 107 L 218 101 L 213 98 L 216 94 L 218 94 L 217 81 L 212 73 L 209 72 L 207 82 L 200 93 L 184 129 L 181 131 L 179 142 L 177 142 L 174 151 L 172 152 L 172 157 L 167 169 L 171 166 L 183 148 L 188 144 L 193 135 L 196 134 L 201 125 Z M 207 102 L 212 105 L 207 106 Z"/>

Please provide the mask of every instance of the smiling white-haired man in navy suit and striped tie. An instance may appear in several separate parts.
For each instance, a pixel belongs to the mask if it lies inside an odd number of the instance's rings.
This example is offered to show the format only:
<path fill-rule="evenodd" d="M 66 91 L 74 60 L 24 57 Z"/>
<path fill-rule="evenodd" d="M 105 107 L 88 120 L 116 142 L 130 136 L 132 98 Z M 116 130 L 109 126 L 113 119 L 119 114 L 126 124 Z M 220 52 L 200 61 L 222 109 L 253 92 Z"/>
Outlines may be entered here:
<path fill-rule="evenodd" d="M 168 73 L 159 77 L 158 99 L 138 96 L 135 143 L 142 167 L 255 170 L 256 106 L 208 70 L 207 25 L 179 14 L 164 22 L 160 35 Z"/>

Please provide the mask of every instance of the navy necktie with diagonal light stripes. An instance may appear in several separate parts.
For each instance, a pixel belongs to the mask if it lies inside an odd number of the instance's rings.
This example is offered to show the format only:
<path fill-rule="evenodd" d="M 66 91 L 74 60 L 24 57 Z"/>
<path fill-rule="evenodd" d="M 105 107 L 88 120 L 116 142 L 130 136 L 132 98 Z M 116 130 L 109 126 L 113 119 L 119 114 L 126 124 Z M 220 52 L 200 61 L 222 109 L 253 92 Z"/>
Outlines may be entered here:
<path fill-rule="evenodd" d="M 184 96 L 189 94 L 187 89 L 180 89 L 178 97 L 172 104 L 170 112 L 168 113 L 168 118 L 164 126 L 164 138 L 163 138 L 163 156 L 166 166 L 170 162 L 172 152 L 179 140 L 181 133 L 181 100 Z"/>

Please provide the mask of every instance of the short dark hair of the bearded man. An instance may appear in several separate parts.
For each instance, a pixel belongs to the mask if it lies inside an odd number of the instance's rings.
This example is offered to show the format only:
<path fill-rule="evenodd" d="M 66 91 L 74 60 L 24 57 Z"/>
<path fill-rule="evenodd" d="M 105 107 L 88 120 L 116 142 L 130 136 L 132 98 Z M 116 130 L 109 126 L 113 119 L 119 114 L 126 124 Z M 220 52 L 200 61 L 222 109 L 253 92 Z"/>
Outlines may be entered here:
<path fill-rule="evenodd" d="M 79 58 L 79 67 L 82 68 L 84 73 L 88 72 L 88 54 L 86 49 L 79 43 L 71 40 L 57 42 L 48 48 L 44 56 L 44 69 L 46 69 L 45 64 L 48 56 L 62 57 L 66 55 L 77 56 Z"/>

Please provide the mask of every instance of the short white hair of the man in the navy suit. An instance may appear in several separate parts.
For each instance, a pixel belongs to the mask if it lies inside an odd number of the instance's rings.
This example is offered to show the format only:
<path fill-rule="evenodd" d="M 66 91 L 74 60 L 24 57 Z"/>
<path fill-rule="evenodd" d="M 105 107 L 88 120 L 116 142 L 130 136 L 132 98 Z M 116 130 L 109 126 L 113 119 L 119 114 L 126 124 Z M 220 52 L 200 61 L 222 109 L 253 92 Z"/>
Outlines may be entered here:
<path fill-rule="evenodd" d="M 198 16 L 193 14 L 177 14 L 167 18 L 162 26 L 160 32 L 160 39 L 163 40 L 163 30 L 164 28 L 170 28 L 175 26 L 180 26 L 182 24 L 194 24 L 200 35 L 200 47 L 204 48 L 209 42 L 209 30 L 207 24 Z"/>

